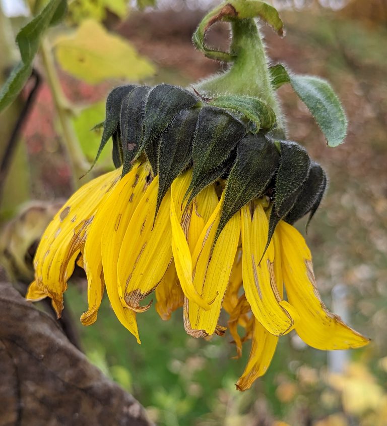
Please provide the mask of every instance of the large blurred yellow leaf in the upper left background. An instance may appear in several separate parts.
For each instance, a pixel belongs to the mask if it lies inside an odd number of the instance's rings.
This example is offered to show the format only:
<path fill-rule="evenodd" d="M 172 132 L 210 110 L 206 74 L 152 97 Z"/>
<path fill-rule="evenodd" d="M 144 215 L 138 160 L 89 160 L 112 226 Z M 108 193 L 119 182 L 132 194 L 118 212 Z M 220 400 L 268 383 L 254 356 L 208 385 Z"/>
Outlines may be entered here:
<path fill-rule="evenodd" d="M 111 78 L 138 80 L 155 72 L 127 40 L 92 19 L 84 20 L 73 34 L 57 37 L 55 47 L 61 68 L 90 84 Z"/>

